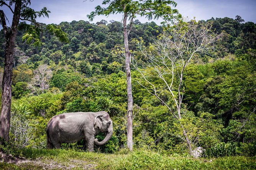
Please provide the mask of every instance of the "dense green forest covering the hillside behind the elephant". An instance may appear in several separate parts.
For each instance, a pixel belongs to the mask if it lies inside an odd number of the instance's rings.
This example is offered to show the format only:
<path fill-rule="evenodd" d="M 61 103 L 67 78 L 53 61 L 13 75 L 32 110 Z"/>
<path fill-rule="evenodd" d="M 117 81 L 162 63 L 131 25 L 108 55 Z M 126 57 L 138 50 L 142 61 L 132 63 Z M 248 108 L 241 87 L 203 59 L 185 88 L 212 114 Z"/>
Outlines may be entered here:
<path fill-rule="evenodd" d="M 218 40 L 209 53 L 198 53 L 184 71 L 181 114 L 193 149 L 204 156 L 255 156 L 256 154 L 256 24 L 240 16 L 207 21 Z M 107 111 L 114 133 L 98 152 L 113 153 L 126 146 L 127 91 L 123 27 L 118 21 L 61 22 L 70 43 L 61 43 L 48 32 L 40 47 L 16 37 L 12 78 L 10 143 L 18 148 L 46 148 L 46 125 L 64 112 Z M 139 66 L 147 61 L 135 40 L 146 47 L 164 31 L 155 22 L 134 21 L 129 47 Z M 0 31 L 0 81 L 5 59 L 5 38 Z M 145 67 L 146 69 L 146 67 Z M 134 148 L 166 154 L 189 154 L 182 129 L 162 103 L 173 99 L 158 77 L 161 100 L 141 86 L 146 83 L 131 67 Z M 175 82 L 176 80 L 174 80 Z M 2 84 L 2 82 L 0 82 Z M 175 84 L 175 83 L 174 83 Z M 1 90 L 2 91 L 2 90 Z M 104 138 L 99 134 L 97 138 Z M 85 141 L 62 148 L 85 149 Z"/>

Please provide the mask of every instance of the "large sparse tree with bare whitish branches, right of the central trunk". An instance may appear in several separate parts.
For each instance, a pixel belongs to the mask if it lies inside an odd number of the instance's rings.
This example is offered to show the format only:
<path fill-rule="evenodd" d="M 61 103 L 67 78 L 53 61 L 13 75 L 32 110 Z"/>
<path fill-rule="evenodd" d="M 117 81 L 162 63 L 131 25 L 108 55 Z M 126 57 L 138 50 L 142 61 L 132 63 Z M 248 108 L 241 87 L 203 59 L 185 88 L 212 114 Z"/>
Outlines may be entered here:
<path fill-rule="evenodd" d="M 213 49 L 215 35 L 210 32 L 207 24 L 198 23 L 194 20 L 184 19 L 164 31 L 149 47 L 145 47 L 142 38 L 137 40 L 139 51 L 147 59 L 147 69 L 139 68 L 136 59 L 132 57 L 132 64 L 135 69 L 142 75 L 146 85 L 141 84 L 152 95 L 156 96 L 174 118 L 179 121 L 182 128 L 184 142 L 187 143 L 190 155 L 192 154 L 192 143 L 187 135 L 186 129 L 182 124 L 182 98 L 183 74 L 185 67 L 196 53 L 207 53 Z M 167 102 L 162 98 L 162 90 L 159 85 L 154 84 L 154 79 L 161 79 L 161 87 L 164 87 L 171 96 L 173 103 Z"/>

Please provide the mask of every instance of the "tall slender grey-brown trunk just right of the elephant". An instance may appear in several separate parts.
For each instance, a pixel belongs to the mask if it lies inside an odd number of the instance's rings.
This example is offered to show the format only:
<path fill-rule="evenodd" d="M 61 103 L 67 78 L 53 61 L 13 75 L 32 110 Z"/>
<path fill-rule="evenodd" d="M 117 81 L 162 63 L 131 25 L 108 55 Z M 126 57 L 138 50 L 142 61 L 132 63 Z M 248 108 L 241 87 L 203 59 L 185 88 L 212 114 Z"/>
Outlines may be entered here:
<path fill-rule="evenodd" d="M 123 17 L 123 33 L 125 43 L 125 70 L 127 81 L 127 147 L 130 151 L 133 150 L 133 95 L 131 93 L 131 70 L 130 70 L 130 51 L 128 47 L 128 33 L 127 33 L 127 13 Z"/>

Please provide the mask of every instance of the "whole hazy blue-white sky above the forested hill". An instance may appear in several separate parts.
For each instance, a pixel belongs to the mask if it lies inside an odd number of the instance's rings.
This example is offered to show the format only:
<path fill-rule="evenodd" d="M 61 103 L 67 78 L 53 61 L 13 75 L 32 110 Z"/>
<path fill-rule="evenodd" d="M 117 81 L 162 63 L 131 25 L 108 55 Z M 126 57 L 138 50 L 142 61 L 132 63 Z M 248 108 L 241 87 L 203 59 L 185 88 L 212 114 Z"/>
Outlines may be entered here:
<path fill-rule="evenodd" d="M 236 15 L 241 16 L 245 22 L 251 21 L 256 23 L 256 0 L 174 0 L 177 3 L 176 9 L 182 16 L 189 18 L 196 18 L 197 20 L 207 20 L 210 18 L 224 18 L 229 17 L 235 19 Z M 41 10 L 44 6 L 51 11 L 49 18 L 39 18 L 38 22 L 45 24 L 59 24 L 62 21 L 89 21 L 87 14 L 94 11 L 95 6 L 101 5 L 102 0 L 31 0 L 30 7 L 36 11 Z M 6 15 L 11 18 L 11 13 L 6 12 L 7 9 L 0 7 L 4 10 Z M 96 16 L 94 21 L 96 23 L 102 19 L 106 21 L 122 20 L 122 15 L 111 16 Z M 140 22 L 151 22 L 145 18 L 136 18 Z M 9 19 L 9 22 L 11 19 Z M 160 21 L 152 20 L 156 24 Z M 0 27 L 2 29 L 2 27 Z"/>

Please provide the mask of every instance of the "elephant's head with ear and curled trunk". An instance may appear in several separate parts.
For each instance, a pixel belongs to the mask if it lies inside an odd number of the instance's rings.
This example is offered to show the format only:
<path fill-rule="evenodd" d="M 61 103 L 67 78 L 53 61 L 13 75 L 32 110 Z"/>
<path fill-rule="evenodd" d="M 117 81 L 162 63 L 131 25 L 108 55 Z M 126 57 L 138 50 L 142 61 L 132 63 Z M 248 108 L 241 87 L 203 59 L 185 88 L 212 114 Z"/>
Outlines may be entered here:
<path fill-rule="evenodd" d="M 107 133 L 103 141 L 99 142 L 97 138 L 94 140 L 96 145 L 103 145 L 107 143 L 113 135 L 113 124 L 108 114 L 96 116 L 94 120 L 94 128 L 98 128 L 100 132 Z"/>

